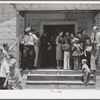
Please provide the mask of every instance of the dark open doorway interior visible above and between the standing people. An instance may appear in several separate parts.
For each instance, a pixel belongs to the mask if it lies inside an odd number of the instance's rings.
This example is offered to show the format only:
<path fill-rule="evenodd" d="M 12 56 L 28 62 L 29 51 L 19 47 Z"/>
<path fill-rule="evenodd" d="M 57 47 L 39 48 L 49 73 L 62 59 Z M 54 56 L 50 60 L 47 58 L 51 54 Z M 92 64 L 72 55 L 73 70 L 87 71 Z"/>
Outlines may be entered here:
<path fill-rule="evenodd" d="M 55 42 L 56 36 L 60 31 L 65 32 L 75 32 L 75 25 L 44 25 L 43 32 L 47 33 L 48 42 Z M 52 40 L 53 39 L 53 40 Z M 48 51 L 48 68 L 56 68 L 56 42 L 53 47 L 53 51 Z"/>

